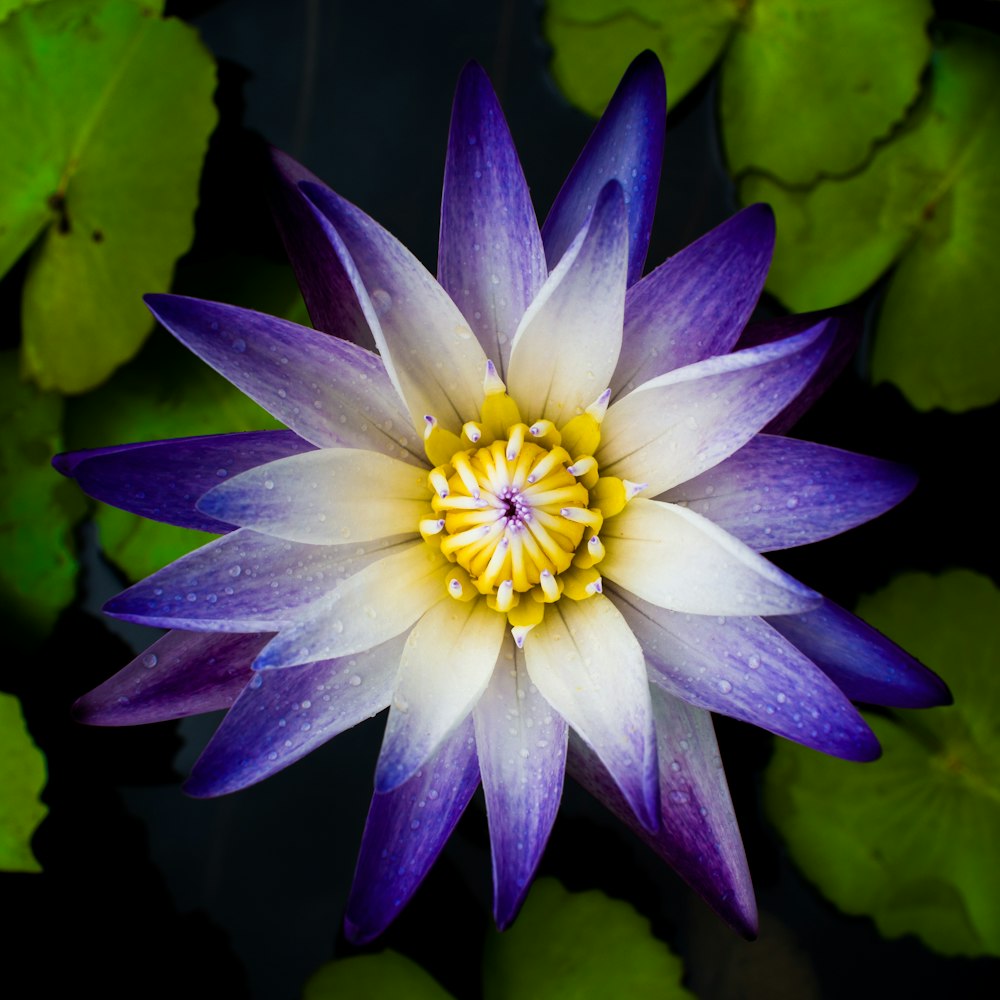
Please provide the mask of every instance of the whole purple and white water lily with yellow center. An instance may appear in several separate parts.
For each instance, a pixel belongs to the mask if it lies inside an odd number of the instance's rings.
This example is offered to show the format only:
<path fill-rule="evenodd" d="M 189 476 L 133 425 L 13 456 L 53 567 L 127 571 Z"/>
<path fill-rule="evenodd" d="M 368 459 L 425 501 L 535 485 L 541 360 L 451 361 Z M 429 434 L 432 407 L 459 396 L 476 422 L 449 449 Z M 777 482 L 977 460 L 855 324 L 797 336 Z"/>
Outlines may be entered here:
<path fill-rule="evenodd" d="M 539 228 L 496 97 L 467 67 L 437 279 L 276 154 L 315 329 L 147 303 L 289 429 L 56 459 L 101 500 L 222 535 L 109 602 L 170 631 L 81 699 L 85 721 L 228 709 L 186 785 L 212 796 L 388 707 L 347 905 L 357 941 L 410 898 L 480 784 L 506 926 L 567 767 L 753 933 L 711 713 L 870 760 L 852 699 L 947 699 L 762 554 L 866 521 L 913 480 L 775 433 L 842 338 L 828 318 L 745 329 L 774 239 L 765 206 L 642 276 L 664 119 L 646 54 Z"/>

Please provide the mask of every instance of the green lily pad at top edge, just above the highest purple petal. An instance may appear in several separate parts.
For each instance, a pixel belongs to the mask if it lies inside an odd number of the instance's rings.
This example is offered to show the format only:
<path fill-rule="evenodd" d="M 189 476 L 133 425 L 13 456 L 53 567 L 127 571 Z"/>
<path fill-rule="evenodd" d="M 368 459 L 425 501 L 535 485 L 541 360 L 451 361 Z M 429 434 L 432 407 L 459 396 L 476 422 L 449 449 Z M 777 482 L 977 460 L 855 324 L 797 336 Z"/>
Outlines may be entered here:
<path fill-rule="evenodd" d="M 596 117 L 628 64 L 652 49 L 663 62 L 673 106 L 718 58 L 741 7 L 741 0 L 548 0 L 552 75 L 574 104 Z"/>

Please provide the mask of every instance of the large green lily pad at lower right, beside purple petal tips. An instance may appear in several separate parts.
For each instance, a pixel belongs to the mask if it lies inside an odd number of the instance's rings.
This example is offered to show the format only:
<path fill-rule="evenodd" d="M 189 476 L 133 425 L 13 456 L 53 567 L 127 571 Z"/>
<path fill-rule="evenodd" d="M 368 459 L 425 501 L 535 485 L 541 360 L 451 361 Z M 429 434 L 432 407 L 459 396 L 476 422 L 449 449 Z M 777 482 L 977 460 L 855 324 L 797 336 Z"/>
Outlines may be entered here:
<path fill-rule="evenodd" d="M 782 741 L 768 814 L 806 877 L 886 937 L 1000 955 L 1000 591 L 964 570 L 912 573 L 858 611 L 938 671 L 955 704 L 868 716 L 874 764 Z"/>

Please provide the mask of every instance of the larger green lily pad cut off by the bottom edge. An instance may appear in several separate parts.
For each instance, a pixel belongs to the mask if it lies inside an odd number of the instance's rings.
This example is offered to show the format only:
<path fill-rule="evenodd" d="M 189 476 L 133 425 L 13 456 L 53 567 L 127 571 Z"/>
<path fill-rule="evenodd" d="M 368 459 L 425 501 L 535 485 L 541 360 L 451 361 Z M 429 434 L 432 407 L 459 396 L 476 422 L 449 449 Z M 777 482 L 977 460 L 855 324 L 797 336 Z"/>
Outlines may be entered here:
<path fill-rule="evenodd" d="M 693 1000 L 649 922 L 601 892 L 539 879 L 510 930 L 487 939 L 485 1000 Z"/>

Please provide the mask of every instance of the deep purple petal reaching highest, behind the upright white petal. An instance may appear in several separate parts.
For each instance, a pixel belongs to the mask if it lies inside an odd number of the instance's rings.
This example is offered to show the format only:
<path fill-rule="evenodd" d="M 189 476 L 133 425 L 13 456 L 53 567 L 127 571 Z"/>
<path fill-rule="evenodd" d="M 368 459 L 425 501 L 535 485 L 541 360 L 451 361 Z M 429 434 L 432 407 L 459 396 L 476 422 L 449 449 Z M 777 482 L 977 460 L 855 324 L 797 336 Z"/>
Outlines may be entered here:
<path fill-rule="evenodd" d="M 652 52 L 643 52 L 626 70 L 545 220 L 549 270 L 583 228 L 604 185 L 617 180 L 629 210 L 628 282 L 639 279 L 660 186 L 666 117 L 663 67 Z"/>

